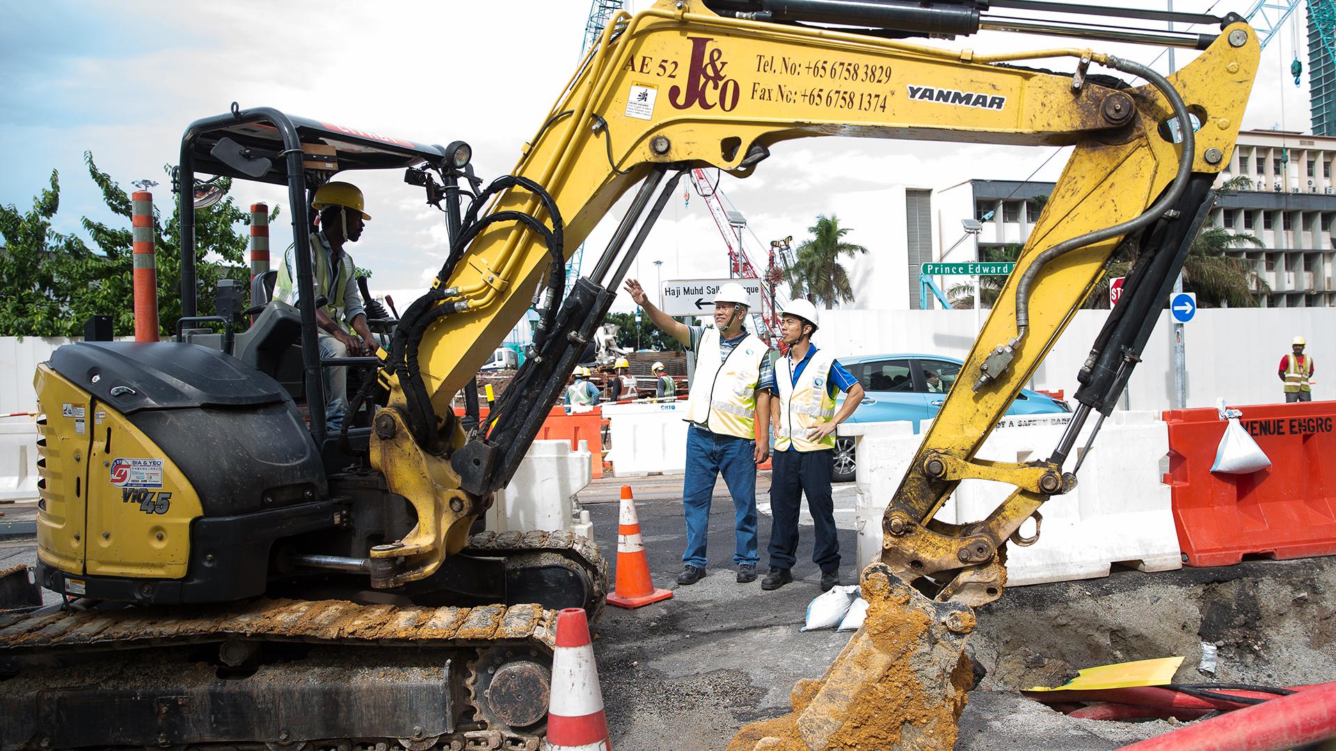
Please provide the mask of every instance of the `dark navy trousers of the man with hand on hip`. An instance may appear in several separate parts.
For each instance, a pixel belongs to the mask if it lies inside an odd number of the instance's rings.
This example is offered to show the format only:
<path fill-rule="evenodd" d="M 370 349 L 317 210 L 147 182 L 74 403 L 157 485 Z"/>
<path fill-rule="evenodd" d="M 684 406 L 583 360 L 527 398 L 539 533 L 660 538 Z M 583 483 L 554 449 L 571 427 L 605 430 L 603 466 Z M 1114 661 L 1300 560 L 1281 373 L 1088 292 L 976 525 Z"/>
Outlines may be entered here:
<path fill-rule="evenodd" d="M 822 573 L 839 572 L 839 537 L 835 532 L 835 501 L 831 500 L 831 468 L 834 450 L 775 452 L 771 454 L 770 512 L 770 565 L 794 568 L 798 553 L 798 512 L 803 493 L 807 510 L 816 525 L 816 548 L 812 563 Z"/>

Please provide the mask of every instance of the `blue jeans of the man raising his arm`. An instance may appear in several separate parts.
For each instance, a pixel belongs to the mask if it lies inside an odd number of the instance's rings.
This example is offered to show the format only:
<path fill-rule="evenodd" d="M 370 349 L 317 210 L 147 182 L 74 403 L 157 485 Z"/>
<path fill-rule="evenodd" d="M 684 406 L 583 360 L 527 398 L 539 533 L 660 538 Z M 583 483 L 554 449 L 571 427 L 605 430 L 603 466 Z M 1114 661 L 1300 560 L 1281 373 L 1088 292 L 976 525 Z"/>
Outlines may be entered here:
<path fill-rule="evenodd" d="M 687 477 L 681 505 L 687 516 L 685 564 L 705 568 L 705 537 L 709 532 L 709 500 L 715 480 L 724 476 L 733 497 L 735 564 L 756 564 L 756 441 L 720 436 L 695 425 L 687 429 Z"/>

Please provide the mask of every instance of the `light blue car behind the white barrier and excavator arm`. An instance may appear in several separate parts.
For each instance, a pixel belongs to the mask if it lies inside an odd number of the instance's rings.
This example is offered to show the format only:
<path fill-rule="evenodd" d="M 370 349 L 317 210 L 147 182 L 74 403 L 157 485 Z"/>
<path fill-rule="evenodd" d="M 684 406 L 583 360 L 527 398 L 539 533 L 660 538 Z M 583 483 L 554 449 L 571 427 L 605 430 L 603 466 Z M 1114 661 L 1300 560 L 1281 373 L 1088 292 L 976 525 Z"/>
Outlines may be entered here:
<path fill-rule="evenodd" d="M 848 422 L 888 422 L 903 420 L 914 424 L 919 432 L 919 421 L 937 416 L 946 392 L 951 390 L 963 362 L 938 354 L 867 354 L 842 357 L 840 365 L 858 378 L 866 394 L 858 412 Z M 969 388 L 966 384 L 962 388 Z M 840 402 L 844 396 L 840 394 Z M 1066 402 L 1021 389 L 1011 402 L 1007 414 L 1037 414 L 1071 412 Z M 835 470 L 831 478 L 836 482 L 850 482 L 858 468 L 854 456 L 854 438 L 836 438 Z"/>

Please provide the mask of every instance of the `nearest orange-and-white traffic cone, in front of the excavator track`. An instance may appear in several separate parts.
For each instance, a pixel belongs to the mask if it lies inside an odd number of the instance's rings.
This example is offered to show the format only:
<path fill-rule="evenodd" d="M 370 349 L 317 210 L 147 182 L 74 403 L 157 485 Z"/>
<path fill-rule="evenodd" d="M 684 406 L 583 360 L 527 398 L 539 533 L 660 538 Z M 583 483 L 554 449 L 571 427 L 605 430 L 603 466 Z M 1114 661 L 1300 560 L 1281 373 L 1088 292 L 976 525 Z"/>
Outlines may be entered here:
<path fill-rule="evenodd" d="M 611 751 L 599 668 L 589 644 L 589 621 L 581 608 L 557 613 L 552 698 L 548 700 L 548 751 Z"/>

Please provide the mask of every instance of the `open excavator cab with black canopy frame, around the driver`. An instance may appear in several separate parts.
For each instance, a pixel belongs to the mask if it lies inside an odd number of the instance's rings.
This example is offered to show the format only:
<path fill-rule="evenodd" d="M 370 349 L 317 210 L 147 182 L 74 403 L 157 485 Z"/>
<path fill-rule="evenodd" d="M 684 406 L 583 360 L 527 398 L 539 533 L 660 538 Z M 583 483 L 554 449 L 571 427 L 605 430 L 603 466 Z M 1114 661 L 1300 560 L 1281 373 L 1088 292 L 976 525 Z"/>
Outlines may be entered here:
<path fill-rule="evenodd" d="M 349 172 L 363 170 L 405 170 L 405 182 L 422 188 L 428 203 L 454 218 L 453 222 L 448 220 L 448 227 L 453 233 L 458 227 L 460 216 L 457 180 L 477 180 L 468 163 L 469 156 L 469 146 L 464 142 L 452 143 L 449 148 L 425 146 L 323 120 L 298 118 L 267 107 L 240 110 L 234 104 L 231 112 L 226 115 L 191 123 L 182 138 L 180 164 L 175 174 L 183 247 L 183 315 L 175 327 L 176 339 L 222 349 L 275 378 L 299 404 L 323 405 L 323 381 L 319 374 L 321 369 L 330 363 L 321 362 L 319 347 L 315 346 L 318 330 L 313 311 L 319 301 L 313 285 L 314 270 L 309 261 L 311 233 L 317 230 L 311 211 L 315 191 L 335 175 L 346 178 Z M 200 180 L 196 178 L 199 174 L 212 178 Z M 285 258 L 283 250 L 278 249 L 271 262 L 266 262 L 273 266 L 253 278 L 248 305 L 228 305 L 234 299 L 244 301 L 247 297 L 244 293 L 236 294 L 242 291 L 239 287 L 220 286 L 215 314 L 199 314 L 195 238 L 190 230 L 195 224 L 196 208 L 220 198 L 214 183 L 220 176 L 287 186 L 286 208 L 290 226 L 299 229 L 293 233 L 297 251 L 293 254 L 293 262 L 297 267 L 290 270 L 294 275 L 297 301 L 274 297 L 278 266 Z M 446 184 L 450 186 L 449 190 Z M 182 186 L 194 188 L 182 190 Z M 265 253 L 270 251 L 266 249 Z M 366 294 L 365 278 L 359 282 L 366 298 L 367 325 L 379 335 L 381 343 L 387 345 L 387 337 L 393 334 L 398 321 Z M 303 314 L 303 311 L 311 313 Z M 247 318 L 251 319 L 251 325 L 232 335 L 234 325 Z M 204 327 L 219 323 L 223 327 L 220 333 Z M 365 380 L 374 377 L 371 369 L 379 359 L 347 357 L 339 362 L 351 366 L 349 394 L 355 394 Z M 311 436 L 321 446 L 321 456 L 331 470 L 345 466 L 353 458 L 349 456 L 350 452 L 365 453 L 370 433 L 369 416 L 374 413 L 375 396 L 383 397 L 383 390 L 367 400 L 366 409 L 349 416 L 353 426 L 342 434 L 329 434 L 322 409 L 309 406 L 305 409 Z M 383 404 L 383 398 L 379 404 Z"/>

